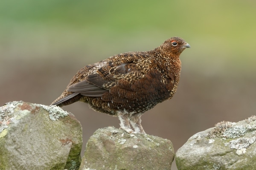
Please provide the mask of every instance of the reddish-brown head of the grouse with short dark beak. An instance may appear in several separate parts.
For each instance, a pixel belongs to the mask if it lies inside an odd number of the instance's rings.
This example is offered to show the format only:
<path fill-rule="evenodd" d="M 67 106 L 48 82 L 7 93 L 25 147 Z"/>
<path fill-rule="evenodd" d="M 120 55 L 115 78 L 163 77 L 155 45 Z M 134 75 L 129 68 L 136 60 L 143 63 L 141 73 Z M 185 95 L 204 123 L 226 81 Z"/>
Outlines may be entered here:
<path fill-rule="evenodd" d="M 172 37 L 158 47 L 164 54 L 180 56 L 183 50 L 190 48 L 190 45 L 180 37 Z"/>

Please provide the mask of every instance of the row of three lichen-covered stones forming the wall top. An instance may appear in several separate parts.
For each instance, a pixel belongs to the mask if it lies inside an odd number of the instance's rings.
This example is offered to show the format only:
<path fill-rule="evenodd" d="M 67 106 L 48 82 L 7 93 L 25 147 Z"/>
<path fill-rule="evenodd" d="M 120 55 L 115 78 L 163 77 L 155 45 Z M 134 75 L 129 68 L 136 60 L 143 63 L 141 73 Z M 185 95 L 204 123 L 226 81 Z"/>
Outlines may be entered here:
<path fill-rule="evenodd" d="M 256 116 L 217 123 L 177 150 L 177 168 L 256 170 L 255 141 Z M 115 127 L 96 130 L 81 146 L 72 113 L 22 101 L 0 107 L 0 170 L 171 170 L 175 156 L 167 139 Z"/>

